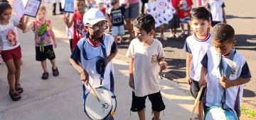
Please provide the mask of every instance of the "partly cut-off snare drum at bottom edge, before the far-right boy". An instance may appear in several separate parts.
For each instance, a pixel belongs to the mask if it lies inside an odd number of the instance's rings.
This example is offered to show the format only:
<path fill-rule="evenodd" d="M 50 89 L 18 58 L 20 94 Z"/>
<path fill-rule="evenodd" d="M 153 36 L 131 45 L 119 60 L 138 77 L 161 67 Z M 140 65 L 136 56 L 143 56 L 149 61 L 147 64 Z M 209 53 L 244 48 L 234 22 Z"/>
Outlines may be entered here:
<path fill-rule="evenodd" d="M 221 107 L 210 107 L 205 114 L 205 120 L 239 120 L 232 109 L 222 109 Z"/>

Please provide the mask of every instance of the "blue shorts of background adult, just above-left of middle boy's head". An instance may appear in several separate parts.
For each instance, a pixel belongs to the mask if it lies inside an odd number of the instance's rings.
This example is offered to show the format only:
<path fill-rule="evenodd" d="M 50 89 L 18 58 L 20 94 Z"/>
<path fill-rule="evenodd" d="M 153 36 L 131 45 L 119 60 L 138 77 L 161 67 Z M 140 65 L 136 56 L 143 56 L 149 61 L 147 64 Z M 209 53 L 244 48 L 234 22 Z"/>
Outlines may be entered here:
<path fill-rule="evenodd" d="M 137 4 L 129 4 L 124 12 L 124 18 L 137 18 L 139 16 L 139 2 Z"/>

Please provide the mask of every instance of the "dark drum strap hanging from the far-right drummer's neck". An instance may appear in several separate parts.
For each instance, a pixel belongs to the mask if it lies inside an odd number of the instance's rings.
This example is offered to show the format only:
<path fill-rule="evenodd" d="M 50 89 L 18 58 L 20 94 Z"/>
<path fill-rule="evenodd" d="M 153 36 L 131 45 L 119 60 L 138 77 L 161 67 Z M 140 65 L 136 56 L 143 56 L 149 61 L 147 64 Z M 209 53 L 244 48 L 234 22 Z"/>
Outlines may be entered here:
<path fill-rule="evenodd" d="M 228 66 L 227 66 L 227 69 L 226 69 L 224 75 L 223 75 L 223 73 L 224 73 L 223 59 L 222 59 L 222 55 L 220 54 L 220 56 L 219 56 L 219 58 L 220 58 L 219 68 L 220 68 L 220 75 L 221 75 L 221 76 L 225 76 L 225 77 L 227 77 L 227 78 L 230 77 L 231 67 L 232 67 L 233 59 L 234 59 L 234 54 L 235 54 L 234 49 L 231 49 L 231 51 L 230 51 L 230 56 L 229 56 L 229 60 L 228 60 Z M 223 109 L 224 109 L 225 100 L 226 100 L 226 94 L 225 94 L 225 88 L 223 88 L 223 96 L 221 97 L 221 101 L 220 101 L 220 102 L 221 102 L 221 107 L 222 107 Z"/>

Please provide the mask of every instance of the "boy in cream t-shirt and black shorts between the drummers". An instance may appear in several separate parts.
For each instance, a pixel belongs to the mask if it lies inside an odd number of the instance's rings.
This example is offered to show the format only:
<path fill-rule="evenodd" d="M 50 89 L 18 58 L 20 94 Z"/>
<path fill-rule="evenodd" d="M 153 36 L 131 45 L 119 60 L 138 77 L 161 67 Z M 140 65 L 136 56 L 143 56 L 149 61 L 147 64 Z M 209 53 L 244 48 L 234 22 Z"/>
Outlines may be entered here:
<path fill-rule="evenodd" d="M 134 36 L 129 44 L 129 86 L 132 92 L 132 112 L 138 112 L 139 119 L 145 119 L 145 100 L 149 97 L 152 104 L 153 119 L 159 120 L 160 112 L 165 109 L 159 89 L 159 68 L 166 69 L 164 49 L 161 42 L 153 38 L 154 17 L 141 14 L 134 21 Z M 136 57 L 135 57 L 136 56 Z M 142 67 L 143 66 L 143 67 Z M 150 86 L 150 87 L 149 87 Z"/>

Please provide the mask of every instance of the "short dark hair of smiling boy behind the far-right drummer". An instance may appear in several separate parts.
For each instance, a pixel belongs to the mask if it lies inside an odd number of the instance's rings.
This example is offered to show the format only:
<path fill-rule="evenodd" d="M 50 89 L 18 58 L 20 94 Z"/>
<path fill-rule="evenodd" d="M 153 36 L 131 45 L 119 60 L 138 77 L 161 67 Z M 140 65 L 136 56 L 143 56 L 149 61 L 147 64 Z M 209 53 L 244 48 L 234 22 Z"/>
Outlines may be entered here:
<path fill-rule="evenodd" d="M 208 11 L 205 7 L 192 8 L 190 11 L 191 20 L 207 20 L 210 22 L 210 11 Z"/>

